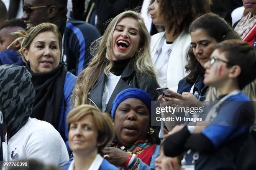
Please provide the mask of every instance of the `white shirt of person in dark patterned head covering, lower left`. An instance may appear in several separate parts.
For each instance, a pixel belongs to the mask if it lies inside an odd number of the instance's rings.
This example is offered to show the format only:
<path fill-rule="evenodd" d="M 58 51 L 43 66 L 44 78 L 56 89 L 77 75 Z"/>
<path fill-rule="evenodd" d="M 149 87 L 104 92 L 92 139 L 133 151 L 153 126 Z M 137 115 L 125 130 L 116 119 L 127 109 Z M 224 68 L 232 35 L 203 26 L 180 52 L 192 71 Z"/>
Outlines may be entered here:
<path fill-rule="evenodd" d="M 6 140 L 3 142 L 3 158 L 4 161 L 37 159 L 56 166 L 63 166 L 69 161 L 59 132 L 50 123 L 31 117 L 8 144 Z"/>

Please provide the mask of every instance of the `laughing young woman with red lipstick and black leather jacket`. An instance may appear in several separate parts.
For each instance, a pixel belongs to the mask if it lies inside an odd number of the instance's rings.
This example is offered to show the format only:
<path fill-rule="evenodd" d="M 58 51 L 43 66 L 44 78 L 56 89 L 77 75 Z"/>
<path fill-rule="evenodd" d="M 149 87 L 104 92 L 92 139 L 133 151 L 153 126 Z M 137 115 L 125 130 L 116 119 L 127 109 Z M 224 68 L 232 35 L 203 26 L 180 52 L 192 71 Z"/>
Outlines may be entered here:
<path fill-rule="evenodd" d="M 97 53 L 74 87 L 74 106 L 93 104 L 110 112 L 115 96 L 131 87 L 156 100 L 159 85 L 150 57 L 150 35 L 139 13 L 117 15 L 94 44 Z"/>

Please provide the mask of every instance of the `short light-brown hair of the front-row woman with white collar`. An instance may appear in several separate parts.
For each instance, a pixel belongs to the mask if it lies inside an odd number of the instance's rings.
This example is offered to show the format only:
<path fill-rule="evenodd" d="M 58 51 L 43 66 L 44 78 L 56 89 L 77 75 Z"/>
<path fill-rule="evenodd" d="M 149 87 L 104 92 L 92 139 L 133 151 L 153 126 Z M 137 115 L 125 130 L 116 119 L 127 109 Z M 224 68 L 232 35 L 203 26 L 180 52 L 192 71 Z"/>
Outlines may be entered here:
<path fill-rule="evenodd" d="M 102 149 L 105 148 L 109 142 L 112 142 L 115 135 L 113 123 L 108 113 L 102 113 L 92 105 L 80 105 L 69 112 L 67 116 L 67 125 L 69 128 L 72 122 L 76 122 L 89 114 L 93 116 L 96 123 L 98 130 L 97 142 L 101 143 L 107 138 L 105 143 L 98 147 L 98 153 L 101 153 Z"/>

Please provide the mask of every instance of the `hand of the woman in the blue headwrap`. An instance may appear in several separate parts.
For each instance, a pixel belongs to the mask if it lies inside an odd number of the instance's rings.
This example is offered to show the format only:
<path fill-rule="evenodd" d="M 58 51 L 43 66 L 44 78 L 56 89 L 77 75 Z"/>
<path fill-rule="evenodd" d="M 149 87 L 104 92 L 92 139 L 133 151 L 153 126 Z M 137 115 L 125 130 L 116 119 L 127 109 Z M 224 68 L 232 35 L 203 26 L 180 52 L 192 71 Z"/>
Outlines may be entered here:
<path fill-rule="evenodd" d="M 114 147 L 105 147 L 102 150 L 103 155 L 109 155 L 108 161 L 116 166 L 124 166 L 129 154 L 121 149 Z"/>

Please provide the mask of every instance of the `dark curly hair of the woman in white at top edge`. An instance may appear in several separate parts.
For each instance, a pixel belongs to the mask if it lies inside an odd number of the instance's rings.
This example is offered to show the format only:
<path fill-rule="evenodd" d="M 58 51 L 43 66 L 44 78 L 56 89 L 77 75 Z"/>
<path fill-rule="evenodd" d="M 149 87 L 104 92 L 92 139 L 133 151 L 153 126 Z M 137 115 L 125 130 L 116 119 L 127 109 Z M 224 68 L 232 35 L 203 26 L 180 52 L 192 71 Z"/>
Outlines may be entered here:
<path fill-rule="evenodd" d="M 210 0 L 162 0 L 161 13 L 169 21 L 169 30 L 174 35 L 188 32 L 189 25 L 200 15 L 210 12 Z"/>

